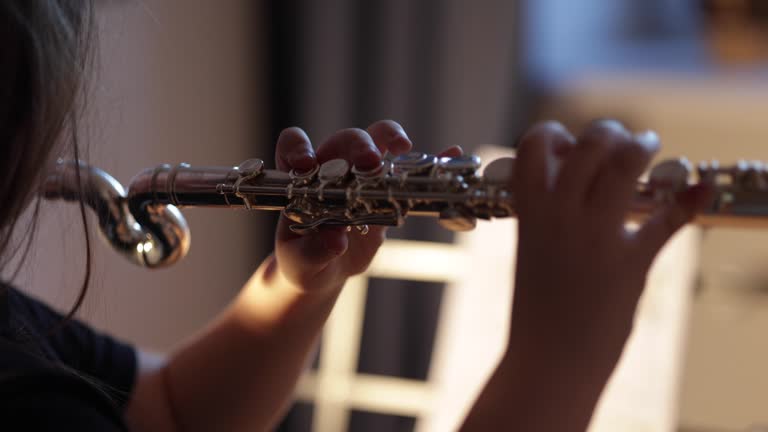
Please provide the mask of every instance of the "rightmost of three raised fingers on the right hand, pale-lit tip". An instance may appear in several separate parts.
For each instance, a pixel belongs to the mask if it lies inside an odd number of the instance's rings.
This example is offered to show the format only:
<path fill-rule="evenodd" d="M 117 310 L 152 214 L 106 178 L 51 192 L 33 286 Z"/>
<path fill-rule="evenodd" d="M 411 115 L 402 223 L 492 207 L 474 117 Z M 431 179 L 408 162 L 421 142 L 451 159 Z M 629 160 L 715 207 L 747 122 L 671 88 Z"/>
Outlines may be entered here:
<path fill-rule="evenodd" d="M 603 212 L 611 222 L 623 222 L 629 202 L 637 189 L 637 178 L 645 171 L 659 149 L 659 137 L 653 132 L 620 137 L 588 193 L 587 201 Z"/>

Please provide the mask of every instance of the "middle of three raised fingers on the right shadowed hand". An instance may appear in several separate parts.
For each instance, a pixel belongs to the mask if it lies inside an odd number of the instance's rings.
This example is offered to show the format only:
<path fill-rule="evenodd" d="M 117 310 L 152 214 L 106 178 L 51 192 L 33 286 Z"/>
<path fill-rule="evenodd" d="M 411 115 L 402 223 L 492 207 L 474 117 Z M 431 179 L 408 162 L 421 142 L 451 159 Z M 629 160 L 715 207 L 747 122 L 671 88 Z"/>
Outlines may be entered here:
<path fill-rule="evenodd" d="M 587 127 L 563 162 L 555 184 L 557 199 L 562 202 L 585 202 L 599 168 L 616 143 L 626 143 L 631 138 L 630 133 L 617 121 L 602 120 Z"/>

